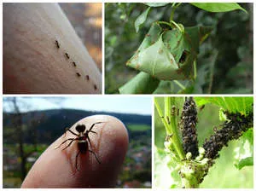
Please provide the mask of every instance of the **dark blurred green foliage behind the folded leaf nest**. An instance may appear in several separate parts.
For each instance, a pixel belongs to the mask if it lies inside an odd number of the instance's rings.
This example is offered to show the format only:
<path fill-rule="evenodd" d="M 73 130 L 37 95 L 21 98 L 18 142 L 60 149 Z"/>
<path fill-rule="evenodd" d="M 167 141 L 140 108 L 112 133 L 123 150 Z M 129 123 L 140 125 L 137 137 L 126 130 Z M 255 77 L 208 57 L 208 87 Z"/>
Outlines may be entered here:
<path fill-rule="evenodd" d="M 241 10 L 210 13 L 189 3 L 182 3 L 176 9 L 173 20 L 183 26 L 214 27 L 201 44 L 195 90 L 191 93 L 253 93 L 253 3 L 239 4 L 247 14 Z M 119 87 L 136 76 L 138 72 L 126 67 L 125 62 L 134 55 L 152 22 L 169 20 L 172 3 L 151 9 L 137 33 L 135 20 L 147 8 L 143 3 L 105 4 L 105 92 L 108 94 L 119 93 Z M 154 93 L 177 93 L 178 90 L 177 84 L 161 81 Z"/>

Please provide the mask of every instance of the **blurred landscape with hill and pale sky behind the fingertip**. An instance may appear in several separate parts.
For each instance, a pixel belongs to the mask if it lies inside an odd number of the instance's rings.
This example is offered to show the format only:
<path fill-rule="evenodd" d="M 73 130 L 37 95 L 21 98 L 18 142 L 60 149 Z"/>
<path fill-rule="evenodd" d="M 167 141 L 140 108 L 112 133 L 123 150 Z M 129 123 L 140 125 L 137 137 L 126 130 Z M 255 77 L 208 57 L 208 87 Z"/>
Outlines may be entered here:
<path fill-rule="evenodd" d="M 65 128 L 94 114 L 120 119 L 129 133 L 116 188 L 151 188 L 151 111 L 150 97 L 3 97 L 3 188 L 20 188 L 34 162 Z"/>

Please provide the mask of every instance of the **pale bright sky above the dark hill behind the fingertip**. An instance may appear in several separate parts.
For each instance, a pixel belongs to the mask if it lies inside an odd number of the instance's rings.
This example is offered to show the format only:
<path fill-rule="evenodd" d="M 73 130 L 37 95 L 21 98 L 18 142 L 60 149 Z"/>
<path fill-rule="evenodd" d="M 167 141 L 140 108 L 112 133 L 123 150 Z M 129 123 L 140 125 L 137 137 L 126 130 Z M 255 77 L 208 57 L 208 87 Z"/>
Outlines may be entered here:
<path fill-rule="evenodd" d="M 3 109 L 11 112 L 13 105 L 3 98 Z M 80 109 L 96 112 L 151 114 L 149 96 L 34 96 L 17 98 L 20 111 L 58 108 Z"/>

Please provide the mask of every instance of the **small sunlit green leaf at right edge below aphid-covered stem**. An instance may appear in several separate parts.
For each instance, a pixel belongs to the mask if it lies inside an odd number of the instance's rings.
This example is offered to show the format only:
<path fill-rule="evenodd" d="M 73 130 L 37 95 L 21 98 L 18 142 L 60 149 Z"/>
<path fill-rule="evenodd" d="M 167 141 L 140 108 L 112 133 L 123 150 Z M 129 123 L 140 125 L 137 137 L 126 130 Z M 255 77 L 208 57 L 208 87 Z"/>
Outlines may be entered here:
<path fill-rule="evenodd" d="M 235 148 L 235 166 L 237 169 L 253 165 L 253 129 L 247 130 L 240 138 L 240 146 Z"/>

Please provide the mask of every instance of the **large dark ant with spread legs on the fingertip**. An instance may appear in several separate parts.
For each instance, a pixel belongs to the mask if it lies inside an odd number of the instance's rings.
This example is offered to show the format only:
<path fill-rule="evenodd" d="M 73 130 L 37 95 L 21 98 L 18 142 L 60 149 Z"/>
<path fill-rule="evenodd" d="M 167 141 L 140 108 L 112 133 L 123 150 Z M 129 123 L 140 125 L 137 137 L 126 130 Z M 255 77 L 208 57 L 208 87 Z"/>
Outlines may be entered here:
<path fill-rule="evenodd" d="M 89 149 L 88 147 L 88 142 L 90 143 L 90 147 L 91 147 L 91 142 L 90 142 L 90 137 L 89 137 L 89 133 L 94 133 L 96 134 L 95 131 L 92 130 L 92 128 L 95 126 L 95 124 L 102 124 L 104 122 L 96 122 L 94 124 L 91 124 L 90 126 L 90 129 L 89 130 L 86 130 L 86 126 L 85 124 L 78 124 L 75 129 L 79 132 L 79 134 L 73 132 L 72 130 L 70 129 L 66 129 L 65 133 L 67 132 L 67 130 L 69 132 L 71 132 L 74 136 L 77 136 L 76 138 L 69 138 L 67 139 L 66 141 L 62 142 L 58 147 L 55 147 L 55 149 L 57 148 L 61 148 L 61 145 L 63 145 L 65 142 L 67 141 L 71 141 L 68 143 L 67 147 L 65 148 L 62 148 L 62 150 L 65 150 L 66 148 L 68 148 L 72 142 L 74 141 L 78 141 L 78 148 L 79 148 L 79 153 L 86 153 L 87 151 L 89 151 L 90 153 L 93 153 L 93 155 L 95 156 L 97 162 L 99 164 L 101 164 L 101 161 L 97 158 L 96 156 L 96 153 L 94 153 L 92 150 Z M 85 130 L 85 132 L 84 132 Z M 87 142 L 88 140 L 88 142 Z M 76 169 L 79 171 L 79 168 L 78 168 L 78 157 L 79 157 L 79 153 L 77 153 L 77 156 L 76 156 Z"/>

